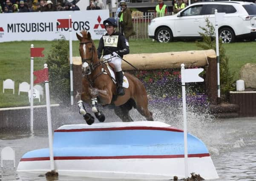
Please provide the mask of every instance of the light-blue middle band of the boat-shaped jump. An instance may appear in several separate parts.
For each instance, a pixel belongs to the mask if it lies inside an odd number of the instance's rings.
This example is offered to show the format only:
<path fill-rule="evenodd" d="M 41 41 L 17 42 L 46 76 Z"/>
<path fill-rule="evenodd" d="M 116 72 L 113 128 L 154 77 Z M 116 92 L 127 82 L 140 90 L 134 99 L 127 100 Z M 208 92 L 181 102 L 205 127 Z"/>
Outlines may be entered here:
<path fill-rule="evenodd" d="M 204 143 L 188 134 L 188 156 L 209 156 Z M 184 134 L 172 128 L 57 130 L 54 157 L 178 158 L 184 157 Z M 49 157 L 49 149 L 26 153 L 23 159 Z"/>

